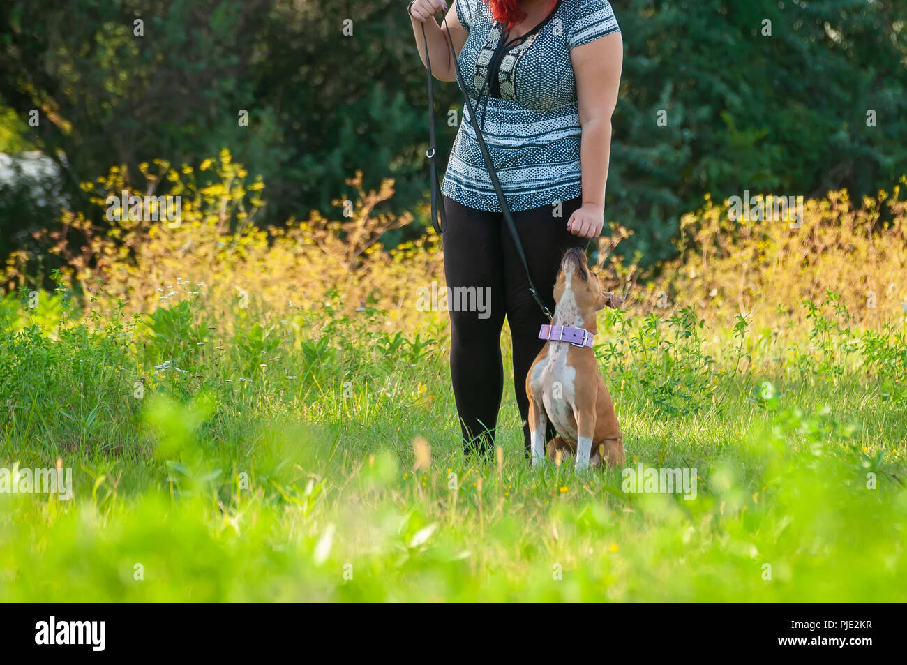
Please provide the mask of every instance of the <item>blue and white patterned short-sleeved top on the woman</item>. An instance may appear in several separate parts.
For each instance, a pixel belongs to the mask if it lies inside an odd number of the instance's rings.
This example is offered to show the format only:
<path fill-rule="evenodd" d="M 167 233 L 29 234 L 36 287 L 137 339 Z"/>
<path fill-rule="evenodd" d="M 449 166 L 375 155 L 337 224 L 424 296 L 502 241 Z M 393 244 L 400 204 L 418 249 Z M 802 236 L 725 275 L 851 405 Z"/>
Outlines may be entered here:
<path fill-rule="evenodd" d="M 482 0 L 456 0 L 456 12 L 469 31 L 457 62 L 507 205 L 529 210 L 580 196 L 580 113 L 570 50 L 619 31 L 610 3 L 561 0 L 536 34 L 503 56 L 494 91 L 499 97 L 483 84 L 502 26 Z M 441 190 L 464 206 L 501 210 L 465 104 Z"/>

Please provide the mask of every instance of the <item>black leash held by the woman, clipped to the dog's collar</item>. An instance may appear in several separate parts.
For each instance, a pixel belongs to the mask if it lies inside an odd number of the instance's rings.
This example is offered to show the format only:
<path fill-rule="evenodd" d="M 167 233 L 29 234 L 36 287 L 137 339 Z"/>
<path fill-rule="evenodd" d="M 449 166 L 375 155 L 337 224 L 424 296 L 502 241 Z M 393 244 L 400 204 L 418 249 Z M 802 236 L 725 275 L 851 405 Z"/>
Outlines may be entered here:
<path fill-rule="evenodd" d="M 412 6 L 412 4 L 411 4 Z M 498 181 L 498 173 L 494 169 L 494 164 L 492 161 L 492 155 L 488 152 L 488 148 L 485 146 L 485 140 L 482 136 L 482 130 L 479 127 L 479 122 L 475 117 L 475 110 L 473 109 L 473 103 L 469 98 L 469 93 L 466 92 L 466 84 L 463 83 L 463 73 L 460 72 L 460 64 L 457 63 L 456 53 L 453 51 L 453 37 L 451 36 L 450 26 L 447 25 L 447 16 L 444 15 L 444 29 L 447 30 L 447 45 L 450 46 L 451 56 L 453 57 L 453 69 L 456 73 L 456 82 L 460 88 L 460 92 L 463 93 L 463 100 L 466 103 L 466 108 L 469 110 L 469 121 L 473 125 L 473 131 L 475 132 L 476 140 L 479 142 L 479 148 L 482 150 L 482 157 L 485 161 L 485 168 L 488 169 L 488 175 L 492 180 L 492 186 L 494 187 L 494 192 L 498 196 L 498 202 L 501 204 L 501 211 L 503 213 L 504 221 L 507 222 L 507 228 L 511 232 L 513 238 L 513 244 L 516 246 L 516 252 L 520 256 L 522 261 L 522 267 L 526 270 L 526 279 L 529 282 L 529 291 L 532 293 L 532 298 L 535 299 L 535 302 L 541 308 L 542 313 L 551 320 L 551 311 L 545 306 L 544 301 L 539 297 L 539 293 L 535 288 L 535 285 L 532 283 L 532 276 L 529 274 L 529 263 L 526 261 L 526 254 L 522 249 L 522 242 L 520 242 L 520 234 L 516 230 L 516 224 L 513 223 L 513 218 L 511 216 L 510 207 L 507 205 L 507 200 L 504 198 L 504 192 L 501 189 L 501 182 Z M 443 194 L 441 193 L 441 184 L 438 181 L 438 165 L 437 165 L 437 153 L 435 151 L 435 140 L 434 140 L 434 87 L 432 83 L 432 64 L 429 60 L 428 55 L 428 37 L 425 35 L 425 24 L 422 24 L 422 38 L 425 43 L 425 69 L 428 70 L 428 152 L 425 152 L 425 156 L 429 161 L 429 169 L 431 171 L 431 188 L 432 188 L 432 225 L 434 226 L 435 232 L 439 235 L 444 233 L 444 226 L 446 225 L 446 219 L 444 218 L 444 204 L 442 203 Z M 441 220 L 440 225 L 438 220 Z"/>

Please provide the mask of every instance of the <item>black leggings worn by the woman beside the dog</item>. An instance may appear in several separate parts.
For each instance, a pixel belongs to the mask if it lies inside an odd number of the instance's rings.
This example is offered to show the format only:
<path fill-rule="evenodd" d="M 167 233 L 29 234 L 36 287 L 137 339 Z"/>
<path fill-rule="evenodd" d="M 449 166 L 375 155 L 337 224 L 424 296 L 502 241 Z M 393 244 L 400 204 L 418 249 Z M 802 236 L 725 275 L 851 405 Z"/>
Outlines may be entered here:
<path fill-rule="evenodd" d="M 554 216 L 554 206 L 512 212 L 532 282 L 552 312 L 554 281 L 564 252 L 573 247 L 586 249 L 589 245 L 588 239 L 574 236 L 567 230 L 567 220 L 581 203 L 581 197 L 563 201 L 561 217 Z M 502 214 L 474 210 L 446 198 L 444 212 L 447 218 L 444 276 L 447 288 L 451 289 L 448 293 L 453 294 L 448 298 L 451 377 L 463 432 L 463 450 L 466 455 L 487 453 L 494 446 L 494 428 L 503 391 L 501 329 L 506 316 L 513 338 L 513 388 L 520 407 L 528 455 L 526 375 L 544 344 L 538 338 L 539 328 L 548 323 L 548 319 L 532 298 L 526 271 Z M 461 290 L 458 292 L 457 288 Z M 478 289 L 487 295 L 486 301 L 481 298 L 468 300 L 476 298 L 474 294 Z M 457 296 L 458 293 L 461 295 Z M 485 307 L 478 308 L 476 304 Z M 458 308 L 460 311 L 456 311 Z M 549 424 L 546 440 L 553 435 Z"/>

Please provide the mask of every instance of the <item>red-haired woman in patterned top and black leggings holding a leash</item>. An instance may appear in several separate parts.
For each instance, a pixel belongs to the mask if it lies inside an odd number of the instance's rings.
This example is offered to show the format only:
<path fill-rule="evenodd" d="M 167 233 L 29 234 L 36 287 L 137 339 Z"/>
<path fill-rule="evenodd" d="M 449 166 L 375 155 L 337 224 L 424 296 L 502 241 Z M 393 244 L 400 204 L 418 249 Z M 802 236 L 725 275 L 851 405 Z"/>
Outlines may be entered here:
<path fill-rule="evenodd" d="M 455 81 L 447 31 L 476 120 L 549 309 L 564 251 L 585 249 L 604 225 L 611 113 L 623 43 L 606 0 L 413 0 L 409 14 L 425 63 Z M 446 11 L 444 27 L 434 14 Z M 464 108 L 464 113 L 468 111 Z M 513 384 L 530 449 L 526 374 L 548 323 L 532 299 L 469 122 L 460 124 L 442 185 L 449 288 L 485 289 L 487 310 L 451 311 L 451 377 L 464 450 L 493 448 L 501 406 L 501 330 L 513 340 Z M 564 221 L 566 220 L 566 222 Z M 477 291 L 478 292 L 478 291 Z M 481 315 L 481 316 L 480 316 Z M 553 432 L 549 433 L 549 438 Z"/>

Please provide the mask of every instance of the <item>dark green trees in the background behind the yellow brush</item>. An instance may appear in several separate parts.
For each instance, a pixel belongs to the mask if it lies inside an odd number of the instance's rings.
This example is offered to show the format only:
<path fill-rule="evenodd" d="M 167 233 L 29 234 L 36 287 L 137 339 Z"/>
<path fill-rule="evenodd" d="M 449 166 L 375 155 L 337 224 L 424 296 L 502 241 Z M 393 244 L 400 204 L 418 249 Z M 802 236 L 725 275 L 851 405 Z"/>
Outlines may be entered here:
<path fill-rule="evenodd" d="M 859 200 L 902 175 L 902 0 L 612 5 L 625 64 L 607 218 L 634 231 L 624 249 L 642 251 L 644 265 L 673 256 L 669 240 L 704 194 L 846 188 Z M 100 210 L 81 182 L 122 165 L 141 191 L 142 162 L 198 167 L 222 148 L 268 182 L 264 225 L 327 215 L 355 193 L 346 181 L 357 169 L 366 188 L 395 179 L 386 209 L 420 210 L 424 70 L 404 8 L 403 0 L 5 2 L 0 152 L 31 148 L 56 161 L 63 196 L 95 221 Z M 142 37 L 132 34 L 137 17 Z M 342 32 L 346 19 L 352 36 Z M 459 93 L 436 87 L 446 155 L 456 128 L 445 112 L 459 112 Z M 36 128 L 26 124 L 32 109 L 41 112 Z M 240 109 L 249 127 L 239 127 Z M 659 109 L 667 127 L 656 125 Z M 866 125 L 869 109 L 877 127 Z M 0 185 L 0 254 L 27 245 L 48 208 L 21 185 Z M 413 240 L 425 217 L 385 240 Z"/>

